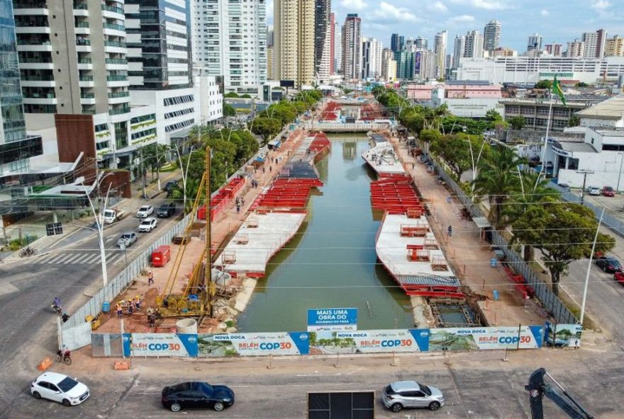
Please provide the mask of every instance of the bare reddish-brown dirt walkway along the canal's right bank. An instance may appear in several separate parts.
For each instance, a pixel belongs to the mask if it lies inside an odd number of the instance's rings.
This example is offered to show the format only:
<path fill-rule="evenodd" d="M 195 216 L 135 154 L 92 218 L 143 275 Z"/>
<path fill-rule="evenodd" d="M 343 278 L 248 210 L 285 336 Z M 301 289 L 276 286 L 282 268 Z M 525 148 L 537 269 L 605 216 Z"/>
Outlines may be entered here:
<path fill-rule="evenodd" d="M 438 176 L 428 173 L 423 163 L 409 156 L 405 142 L 399 142 L 394 137 L 390 142 L 403 161 L 406 172 L 414 179 L 423 202 L 430 208 L 430 224 L 455 275 L 474 294 L 488 297 L 487 300 L 475 302 L 481 307 L 488 323 L 491 326 L 544 323 L 545 318 L 537 313 L 535 303 L 530 300 L 525 302 L 520 297 L 500 264 L 498 268 L 491 268 L 490 259 L 494 253 L 489 243 L 480 239 L 474 223 L 460 217 L 462 204 L 455 199 L 447 202 L 450 191 L 438 183 Z M 451 237 L 447 237 L 448 226 L 452 226 Z M 492 300 L 494 289 L 498 291 L 498 301 Z"/>

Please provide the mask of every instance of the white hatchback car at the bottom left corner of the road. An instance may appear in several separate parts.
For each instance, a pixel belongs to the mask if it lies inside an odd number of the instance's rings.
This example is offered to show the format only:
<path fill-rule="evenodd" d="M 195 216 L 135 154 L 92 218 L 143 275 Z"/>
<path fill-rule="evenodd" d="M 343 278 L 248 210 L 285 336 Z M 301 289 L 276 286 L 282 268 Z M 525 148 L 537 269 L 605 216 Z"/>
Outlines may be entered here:
<path fill-rule="evenodd" d="M 89 387 L 65 374 L 44 372 L 30 383 L 30 394 L 34 398 L 48 398 L 64 406 L 74 406 L 89 398 Z"/>

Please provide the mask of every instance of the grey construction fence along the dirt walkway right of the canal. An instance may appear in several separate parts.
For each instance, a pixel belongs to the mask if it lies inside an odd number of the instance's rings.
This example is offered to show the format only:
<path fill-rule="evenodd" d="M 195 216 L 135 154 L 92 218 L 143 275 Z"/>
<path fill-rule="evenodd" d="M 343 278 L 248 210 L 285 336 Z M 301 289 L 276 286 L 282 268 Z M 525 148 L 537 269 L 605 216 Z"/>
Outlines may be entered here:
<path fill-rule="evenodd" d="M 440 166 L 436 161 L 432 162 L 435 168 L 435 173 L 448 185 L 453 191 L 453 194 L 457 197 L 459 202 L 466 207 L 472 217 L 484 217 L 481 209 L 477 205 L 474 205 L 472 199 L 464 193 L 462 188 L 453 180 L 445 169 Z M 598 213 L 599 214 L 599 213 Z M 557 323 L 578 323 L 579 320 L 572 314 L 571 311 L 563 304 L 563 302 L 555 295 L 552 290 L 537 277 L 537 274 L 531 268 L 531 266 L 523 260 L 523 258 L 511 248 L 511 244 L 498 234 L 497 231 L 491 231 L 492 243 L 494 246 L 501 248 L 501 251 L 505 254 L 506 263 L 519 275 L 523 275 L 528 285 L 535 289 L 535 297 L 540 300 L 549 314 L 557 320 Z"/>

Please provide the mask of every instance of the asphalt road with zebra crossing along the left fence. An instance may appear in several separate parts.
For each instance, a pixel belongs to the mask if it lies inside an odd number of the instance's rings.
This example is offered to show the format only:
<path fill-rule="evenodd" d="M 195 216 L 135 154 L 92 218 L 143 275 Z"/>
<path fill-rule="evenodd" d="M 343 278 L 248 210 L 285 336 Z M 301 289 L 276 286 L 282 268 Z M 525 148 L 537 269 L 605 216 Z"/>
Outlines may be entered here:
<path fill-rule="evenodd" d="M 162 200 L 150 203 L 157 207 L 160 202 Z M 117 238 L 124 231 L 135 230 L 138 219 L 128 215 L 121 222 L 108 226 L 104 230 L 106 259 L 110 262 L 108 277 L 114 277 L 123 269 L 126 256 L 128 261 L 132 260 L 176 221 L 174 217 L 159 219 L 158 228 L 139 234 L 137 242 L 125 254 L 116 247 Z M 87 302 L 85 289 L 101 282 L 95 231 L 78 231 L 62 238 L 59 244 L 69 246 L 0 265 L 0 415 L 35 377 L 33 368 L 37 363 L 56 352 L 57 316 L 50 309 L 53 297 L 60 296 L 65 311 L 72 314 Z"/>

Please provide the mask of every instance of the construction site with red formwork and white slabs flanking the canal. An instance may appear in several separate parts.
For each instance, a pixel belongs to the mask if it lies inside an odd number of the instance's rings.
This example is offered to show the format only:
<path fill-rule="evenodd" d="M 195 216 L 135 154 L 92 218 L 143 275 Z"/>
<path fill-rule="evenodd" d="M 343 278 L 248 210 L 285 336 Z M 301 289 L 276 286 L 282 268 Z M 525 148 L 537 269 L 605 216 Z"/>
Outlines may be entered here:
<path fill-rule="evenodd" d="M 343 108 L 355 105 L 330 101 L 318 111 L 318 119 L 344 118 Z M 359 120 L 385 116 L 379 105 L 370 101 L 362 103 L 357 115 L 352 109 L 348 115 Z M 361 154 L 362 164 L 372 169 L 367 200 L 374 212 L 381 213 L 381 222 L 374 243 L 362 246 L 374 246 L 379 265 L 403 293 L 399 297 L 388 287 L 392 298 L 399 306 L 403 299 L 408 301 L 411 324 L 397 323 L 395 318 L 394 327 L 543 323 L 547 314 L 528 298 L 526 288 L 525 294 L 520 294 L 518 286 L 514 287 L 509 280 L 513 272 L 457 263 L 455 246 L 468 249 L 462 260 L 480 262 L 490 260 L 491 248 L 472 222 L 460 217 L 461 209 L 448 202 L 444 185 L 413 159 L 399 137 L 388 130 L 369 132 L 368 140 L 369 147 Z M 258 282 L 262 280 L 266 289 L 272 285 L 267 278 L 267 272 L 276 269 L 272 260 L 294 237 L 305 234 L 302 230 L 311 217 L 311 196 L 323 199 L 321 178 L 325 177 L 317 165 L 330 154 L 332 142 L 323 132 L 295 130 L 282 139 L 280 147 L 266 151 L 257 160 L 260 163 L 243 168 L 242 174 L 230 179 L 210 202 L 201 202 L 198 195 L 184 234 L 161 249 L 159 261 L 152 260 L 152 266 L 111 302 L 111 311 L 94 322 L 95 333 L 119 332 L 120 323 L 111 321 L 118 317 L 118 306 L 122 307 L 123 331 L 129 333 L 183 333 L 179 321 L 184 318 L 195 321 L 189 323 L 193 333 L 239 331 L 238 317 L 254 298 Z M 206 161 L 206 173 L 210 173 L 209 164 Z M 205 190 L 206 184 L 206 178 L 202 179 L 200 190 Z M 343 196 L 343 200 L 349 197 Z M 455 226 L 453 234 L 446 231 L 450 224 Z M 340 236 L 336 240 L 339 245 Z M 206 251 L 208 248 L 211 251 Z M 208 275 L 211 280 L 206 280 Z M 501 282 L 509 286 L 501 286 Z M 129 314 L 128 301 L 137 297 L 140 310 Z M 307 304 L 323 306 L 318 301 L 303 305 Z M 371 318 L 372 312 L 379 310 L 374 307 L 371 311 L 367 300 L 364 306 Z M 147 316 L 148 309 L 156 313 L 155 318 Z M 299 330 L 297 326 L 281 330 Z M 385 328 L 392 326 L 386 324 Z"/>

